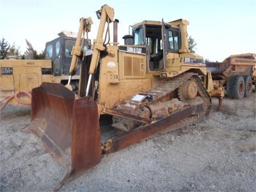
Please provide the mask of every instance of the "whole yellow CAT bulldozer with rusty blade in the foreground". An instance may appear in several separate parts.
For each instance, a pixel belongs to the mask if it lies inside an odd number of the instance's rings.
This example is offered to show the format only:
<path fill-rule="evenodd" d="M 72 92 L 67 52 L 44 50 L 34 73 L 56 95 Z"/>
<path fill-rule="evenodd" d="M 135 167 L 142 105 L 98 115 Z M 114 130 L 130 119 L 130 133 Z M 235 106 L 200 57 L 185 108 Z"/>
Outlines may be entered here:
<path fill-rule="evenodd" d="M 187 20 L 139 22 L 119 45 L 110 43 L 111 22 L 117 39 L 114 10 L 103 5 L 96 13 L 100 23 L 91 50 L 74 47 L 73 57 L 83 60 L 78 92 L 58 83 L 33 89 L 31 123 L 22 130 L 41 137 L 66 167 L 55 190 L 104 155 L 166 128 L 201 121 L 211 111 L 211 96 L 201 80 L 207 75 L 205 63 L 188 49 Z M 75 67 L 71 63 L 70 75 Z M 103 141 L 100 125 L 106 118 L 121 131 Z"/>

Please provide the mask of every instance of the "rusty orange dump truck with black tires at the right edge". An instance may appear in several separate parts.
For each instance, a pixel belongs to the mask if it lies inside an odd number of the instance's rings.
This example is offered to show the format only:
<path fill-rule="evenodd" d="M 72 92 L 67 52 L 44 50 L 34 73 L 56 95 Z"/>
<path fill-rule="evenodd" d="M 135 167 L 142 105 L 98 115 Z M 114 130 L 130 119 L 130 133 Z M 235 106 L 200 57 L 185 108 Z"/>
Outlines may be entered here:
<path fill-rule="evenodd" d="M 220 62 L 206 62 L 214 87 L 224 87 L 229 98 L 249 97 L 256 82 L 256 54 L 234 54 Z M 214 88 L 213 88 L 214 89 Z M 218 89 L 218 88 L 215 88 Z"/>

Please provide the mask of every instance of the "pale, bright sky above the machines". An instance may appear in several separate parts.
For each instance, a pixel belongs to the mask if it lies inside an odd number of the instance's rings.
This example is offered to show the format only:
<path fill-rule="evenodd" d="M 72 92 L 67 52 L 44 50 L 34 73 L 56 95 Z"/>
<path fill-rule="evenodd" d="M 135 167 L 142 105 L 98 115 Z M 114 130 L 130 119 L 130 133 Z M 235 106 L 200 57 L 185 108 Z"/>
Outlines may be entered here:
<path fill-rule="evenodd" d="M 137 22 L 182 18 L 190 22 L 188 35 L 197 43 L 196 53 L 205 59 L 223 61 L 231 54 L 256 53 L 256 0 L 0 0 L 0 38 L 20 46 L 21 54 L 28 47 L 26 38 L 41 52 L 60 31 L 77 32 L 79 18 L 91 17 L 89 38 L 93 39 L 99 25 L 95 11 L 104 4 L 114 9 L 119 20 L 120 44 L 129 26 Z"/>

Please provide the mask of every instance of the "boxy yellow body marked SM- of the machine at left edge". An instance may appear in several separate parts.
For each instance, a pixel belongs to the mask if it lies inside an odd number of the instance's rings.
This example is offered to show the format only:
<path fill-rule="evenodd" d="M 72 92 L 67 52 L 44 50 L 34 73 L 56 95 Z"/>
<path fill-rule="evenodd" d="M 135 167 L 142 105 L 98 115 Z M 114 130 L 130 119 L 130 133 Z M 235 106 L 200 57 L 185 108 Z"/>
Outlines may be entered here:
<path fill-rule="evenodd" d="M 51 60 L 6 59 L 0 60 L 0 66 L 0 99 L 12 105 L 30 105 L 30 91 L 52 80 Z"/>

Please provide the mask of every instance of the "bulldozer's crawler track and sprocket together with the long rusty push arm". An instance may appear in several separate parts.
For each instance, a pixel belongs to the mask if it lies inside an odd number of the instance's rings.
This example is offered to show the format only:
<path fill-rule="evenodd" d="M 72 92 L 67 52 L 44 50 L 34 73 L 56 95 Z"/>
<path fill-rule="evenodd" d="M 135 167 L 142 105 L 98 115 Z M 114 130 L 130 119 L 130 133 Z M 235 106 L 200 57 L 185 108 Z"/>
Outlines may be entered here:
<path fill-rule="evenodd" d="M 211 110 L 211 97 L 193 73 L 181 74 L 141 95 L 145 95 L 142 102 L 125 100 L 113 110 L 106 110 L 113 115 L 112 126 L 126 132 L 108 140 L 103 153 L 123 149 L 167 127 L 175 129 L 200 121 Z"/>

